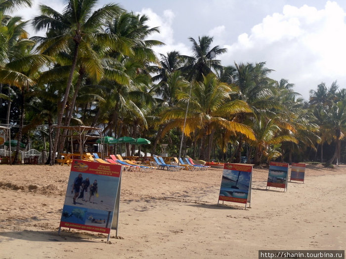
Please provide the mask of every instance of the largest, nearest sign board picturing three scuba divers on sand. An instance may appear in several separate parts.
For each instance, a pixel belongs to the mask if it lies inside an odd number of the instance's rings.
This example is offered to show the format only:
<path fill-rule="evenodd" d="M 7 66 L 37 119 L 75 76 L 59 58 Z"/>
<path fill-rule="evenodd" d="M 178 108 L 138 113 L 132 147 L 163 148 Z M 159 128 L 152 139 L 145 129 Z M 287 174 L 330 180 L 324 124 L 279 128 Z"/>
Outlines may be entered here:
<path fill-rule="evenodd" d="M 73 160 L 59 232 L 69 227 L 108 233 L 109 239 L 111 228 L 118 228 L 121 172 L 121 165 Z"/>

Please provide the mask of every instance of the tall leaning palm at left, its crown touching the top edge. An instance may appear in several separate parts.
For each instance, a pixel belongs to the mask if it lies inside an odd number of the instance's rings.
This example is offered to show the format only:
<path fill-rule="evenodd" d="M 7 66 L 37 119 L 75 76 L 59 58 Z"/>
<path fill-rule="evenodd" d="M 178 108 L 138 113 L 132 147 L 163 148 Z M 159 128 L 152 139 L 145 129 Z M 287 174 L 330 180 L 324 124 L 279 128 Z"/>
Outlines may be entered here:
<path fill-rule="evenodd" d="M 62 125 L 65 106 L 70 94 L 73 75 L 77 67 L 79 53 L 92 50 L 92 42 L 99 45 L 113 46 L 121 42 L 116 36 L 100 34 L 102 26 L 109 19 L 123 11 L 116 4 L 106 4 L 102 8 L 92 11 L 97 0 L 68 0 L 67 6 L 62 14 L 49 6 L 40 5 L 42 15 L 33 20 L 36 31 L 47 29 L 46 37 L 34 37 L 40 45 L 38 50 L 42 54 L 56 55 L 72 48 L 72 65 L 68 76 L 65 94 L 59 104 L 57 126 Z M 123 45 L 123 44 L 122 44 Z M 87 64 L 88 65 L 88 64 Z M 98 69 L 101 69 L 100 67 Z M 102 73 L 98 73 L 100 79 Z M 55 153 L 59 140 L 60 131 L 57 129 L 54 143 Z"/>

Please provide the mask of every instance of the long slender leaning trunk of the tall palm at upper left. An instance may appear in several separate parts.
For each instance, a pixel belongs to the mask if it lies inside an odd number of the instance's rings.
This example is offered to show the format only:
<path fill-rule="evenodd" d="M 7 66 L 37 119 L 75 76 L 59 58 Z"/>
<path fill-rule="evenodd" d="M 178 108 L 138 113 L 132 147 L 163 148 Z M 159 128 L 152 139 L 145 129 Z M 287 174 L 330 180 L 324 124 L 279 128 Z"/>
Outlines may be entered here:
<path fill-rule="evenodd" d="M 69 97 L 69 94 L 70 94 L 70 89 L 71 89 L 72 79 L 73 79 L 73 73 L 75 72 L 76 65 L 77 65 L 79 44 L 80 43 L 78 41 L 75 41 L 75 52 L 74 52 L 74 55 L 73 55 L 72 67 L 71 67 L 69 79 L 67 81 L 64 99 L 62 100 L 62 102 L 60 104 L 60 109 L 59 109 L 59 112 L 58 112 L 58 121 L 57 121 L 57 128 L 56 128 L 56 132 L 55 132 L 53 154 L 55 154 L 56 150 L 58 149 L 58 143 L 59 143 L 59 137 L 60 137 L 60 129 L 59 129 L 59 127 L 62 125 L 61 124 L 62 117 L 64 115 L 65 106 L 66 106 L 66 103 L 67 103 L 67 100 L 68 100 L 68 97 Z"/>

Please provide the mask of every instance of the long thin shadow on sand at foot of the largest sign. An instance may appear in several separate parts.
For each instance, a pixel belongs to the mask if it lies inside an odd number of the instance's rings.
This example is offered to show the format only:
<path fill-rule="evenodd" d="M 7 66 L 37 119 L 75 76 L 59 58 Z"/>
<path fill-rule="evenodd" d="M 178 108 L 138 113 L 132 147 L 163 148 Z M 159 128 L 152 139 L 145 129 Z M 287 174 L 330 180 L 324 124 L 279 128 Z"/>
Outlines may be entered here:
<path fill-rule="evenodd" d="M 91 235 L 93 238 L 98 236 Z M 33 231 L 33 230 L 23 230 L 23 231 L 8 231 L 0 232 L 0 237 L 7 237 L 10 240 L 22 239 L 27 241 L 38 241 L 38 242 L 87 242 L 94 243 L 99 242 L 97 240 L 90 240 L 90 236 L 87 234 L 73 233 L 62 230 L 60 235 L 58 231 Z M 104 237 L 107 238 L 107 237 Z"/>

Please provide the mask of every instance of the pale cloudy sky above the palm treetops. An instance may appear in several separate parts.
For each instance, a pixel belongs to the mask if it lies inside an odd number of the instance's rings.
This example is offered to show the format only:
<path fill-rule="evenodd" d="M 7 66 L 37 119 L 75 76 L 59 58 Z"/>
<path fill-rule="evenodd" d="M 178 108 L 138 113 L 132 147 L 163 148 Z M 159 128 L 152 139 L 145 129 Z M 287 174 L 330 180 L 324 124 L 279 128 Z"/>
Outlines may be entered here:
<path fill-rule="evenodd" d="M 99 0 L 99 6 L 110 3 Z M 113 2 L 114 3 L 114 2 Z M 166 45 L 157 53 L 178 50 L 191 54 L 189 37 L 214 37 L 213 46 L 227 48 L 216 58 L 224 66 L 266 62 L 269 77 L 285 78 L 305 100 L 321 82 L 337 80 L 346 88 L 345 0 L 122 0 L 127 11 L 145 14 L 160 34 L 150 38 Z M 39 15 L 39 4 L 62 12 L 63 0 L 35 0 L 34 7 L 17 15 Z M 28 28 L 32 35 L 37 35 Z"/>

